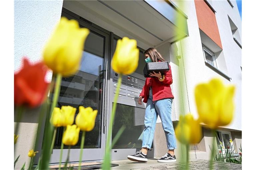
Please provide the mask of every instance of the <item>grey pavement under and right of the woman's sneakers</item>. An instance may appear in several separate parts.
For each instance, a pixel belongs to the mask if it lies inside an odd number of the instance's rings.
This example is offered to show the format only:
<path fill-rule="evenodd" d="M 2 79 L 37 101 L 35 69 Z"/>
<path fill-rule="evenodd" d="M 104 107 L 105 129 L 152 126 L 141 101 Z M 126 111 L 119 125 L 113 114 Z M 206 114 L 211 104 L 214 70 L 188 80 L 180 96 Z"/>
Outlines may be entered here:
<path fill-rule="evenodd" d="M 161 163 L 157 159 L 150 158 L 147 163 L 133 162 L 130 160 L 112 161 L 119 166 L 113 167 L 113 170 L 184 170 L 185 165 L 177 160 L 177 162 Z M 202 159 L 190 159 L 190 170 L 209 170 L 210 161 Z M 241 164 L 217 162 L 214 161 L 214 168 L 216 170 L 241 170 Z"/>

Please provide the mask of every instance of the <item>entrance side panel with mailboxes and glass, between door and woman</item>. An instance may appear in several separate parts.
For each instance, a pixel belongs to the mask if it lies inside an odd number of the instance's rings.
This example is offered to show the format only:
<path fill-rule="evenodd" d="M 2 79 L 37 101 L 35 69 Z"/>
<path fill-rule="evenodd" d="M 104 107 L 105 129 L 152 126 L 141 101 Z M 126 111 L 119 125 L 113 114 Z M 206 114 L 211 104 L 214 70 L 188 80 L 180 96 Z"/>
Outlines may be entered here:
<path fill-rule="evenodd" d="M 113 51 L 116 49 L 117 41 L 121 39 L 117 35 L 113 35 Z M 145 116 L 145 104 L 138 105 L 138 97 L 141 92 L 146 78 L 143 74 L 143 69 L 145 66 L 144 49 L 138 47 L 139 52 L 139 62 L 138 67 L 131 75 L 123 75 L 122 85 L 119 92 L 119 98 L 117 101 L 116 114 L 113 122 L 112 128 L 112 140 L 118 133 L 118 130 L 124 125 L 126 128 L 119 137 L 118 141 L 112 147 L 112 160 L 127 159 L 127 155 L 134 154 L 139 151 L 142 146 L 143 130 L 144 130 L 144 116 Z M 112 57 L 112 55 L 111 55 Z M 115 91 L 117 79 L 114 75 L 118 75 L 113 70 L 111 70 L 111 92 Z M 129 82 L 127 76 L 131 78 Z M 116 79 L 116 80 L 115 80 Z M 133 80 L 134 79 L 134 80 Z M 136 82 L 137 80 L 137 82 Z M 143 82 L 143 84 L 137 84 L 138 81 Z M 142 85 L 142 86 L 141 86 Z M 110 97 L 110 102 L 114 101 L 114 93 Z M 134 97 L 134 98 L 133 98 Z M 110 113 L 112 111 L 112 106 L 110 105 Z M 151 151 L 147 154 L 148 157 L 154 157 L 153 144 L 151 146 Z"/>

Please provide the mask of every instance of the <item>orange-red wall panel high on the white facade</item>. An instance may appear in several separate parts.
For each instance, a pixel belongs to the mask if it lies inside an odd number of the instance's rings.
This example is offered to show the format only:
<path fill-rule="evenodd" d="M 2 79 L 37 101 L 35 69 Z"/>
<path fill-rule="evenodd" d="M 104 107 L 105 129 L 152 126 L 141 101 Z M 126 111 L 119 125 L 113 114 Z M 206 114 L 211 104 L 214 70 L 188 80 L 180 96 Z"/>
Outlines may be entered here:
<path fill-rule="evenodd" d="M 215 13 L 204 0 L 195 0 L 195 6 L 199 28 L 222 49 Z"/>

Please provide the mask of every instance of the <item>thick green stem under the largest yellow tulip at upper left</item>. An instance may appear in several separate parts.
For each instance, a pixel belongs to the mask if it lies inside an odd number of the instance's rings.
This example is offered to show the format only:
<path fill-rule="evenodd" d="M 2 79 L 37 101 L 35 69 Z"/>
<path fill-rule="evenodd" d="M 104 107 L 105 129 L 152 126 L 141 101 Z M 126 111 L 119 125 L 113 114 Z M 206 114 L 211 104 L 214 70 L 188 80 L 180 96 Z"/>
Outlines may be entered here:
<path fill-rule="evenodd" d="M 41 160 L 42 162 L 40 163 L 39 169 L 48 169 L 48 167 L 49 167 L 49 161 L 50 161 L 51 153 L 52 153 L 52 150 L 49 149 L 51 147 L 51 143 L 49 141 L 52 140 L 53 131 L 54 131 L 54 127 L 50 123 L 50 118 L 52 115 L 52 111 L 56 107 L 57 101 L 59 98 L 61 78 L 62 78 L 62 75 L 60 73 L 58 73 L 56 76 L 56 82 L 55 82 L 55 86 L 54 86 L 54 94 L 53 94 L 53 101 L 51 104 L 51 109 L 50 109 L 50 112 L 47 113 L 48 120 L 46 120 L 47 123 L 46 123 L 46 127 L 45 127 L 46 135 L 45 135 L 45 139 L 44 139 L 45 142 L 43 142 L 43 148 L 42 148 L 43 151 L 42 151 L 42 160 Z"/>

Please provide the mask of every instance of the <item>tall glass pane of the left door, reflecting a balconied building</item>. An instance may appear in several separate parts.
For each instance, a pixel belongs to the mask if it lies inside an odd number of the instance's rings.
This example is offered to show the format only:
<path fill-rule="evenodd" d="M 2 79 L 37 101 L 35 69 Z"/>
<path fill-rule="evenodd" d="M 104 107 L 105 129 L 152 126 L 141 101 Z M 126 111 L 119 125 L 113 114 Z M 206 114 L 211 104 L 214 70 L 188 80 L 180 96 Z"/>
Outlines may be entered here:
<path fill-rule="evenodd" d="M 94 33 L 90 33 L 84 47 L 80 69 L 71 77 L 62 78 L 58 107 L 72 106 L 77 109 L 75 117 L 79 112 L 79 106 L 91 107 L 98 110 L 95 127 L 86 132 L 84 148 L 101 147 L 101 104 L 104 73 L 104 43 L 105 39 Z M 90 52 L 88 52 L 90 51 Z M 74 122 L 75 124 L 75 122 Z M 60 149 L 63 128 L 58 128 L 55 149 Z M 79 141 L 71 148 L 80 148 Z M 64 145 L 64 148 L 68 148 Z"/>

